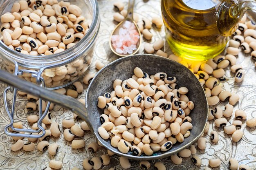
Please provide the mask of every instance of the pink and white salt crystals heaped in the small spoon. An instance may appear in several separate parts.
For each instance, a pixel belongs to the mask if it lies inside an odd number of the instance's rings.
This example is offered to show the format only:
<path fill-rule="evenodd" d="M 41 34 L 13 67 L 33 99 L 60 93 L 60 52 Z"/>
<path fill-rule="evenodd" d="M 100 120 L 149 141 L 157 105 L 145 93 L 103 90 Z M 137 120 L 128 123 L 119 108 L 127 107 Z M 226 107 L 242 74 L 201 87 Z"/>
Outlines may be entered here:
<path fill-rule="evenodd" d="M 119 29 L 119 35 L 112 35 L 111 42 L 116 52 L 119 54 L 132 54 L 137 50 L 137 42 L 139 41 L 139 33 L 135 24 L 125 21 L 123 27 Z"/>

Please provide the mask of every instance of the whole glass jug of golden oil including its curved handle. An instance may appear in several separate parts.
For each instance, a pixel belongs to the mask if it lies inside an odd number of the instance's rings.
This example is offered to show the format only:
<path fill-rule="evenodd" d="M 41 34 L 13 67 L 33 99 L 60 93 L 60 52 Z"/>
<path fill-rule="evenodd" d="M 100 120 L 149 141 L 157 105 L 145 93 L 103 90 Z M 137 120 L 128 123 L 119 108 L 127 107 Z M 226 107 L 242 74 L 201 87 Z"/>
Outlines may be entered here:
<path fill-rule="evenodd" d="M 245 11 L 256 11 L 255 2 L 237 0 L 162 0 L 161 7 L 167 42 L 189 60 L 220 54 Z"/>

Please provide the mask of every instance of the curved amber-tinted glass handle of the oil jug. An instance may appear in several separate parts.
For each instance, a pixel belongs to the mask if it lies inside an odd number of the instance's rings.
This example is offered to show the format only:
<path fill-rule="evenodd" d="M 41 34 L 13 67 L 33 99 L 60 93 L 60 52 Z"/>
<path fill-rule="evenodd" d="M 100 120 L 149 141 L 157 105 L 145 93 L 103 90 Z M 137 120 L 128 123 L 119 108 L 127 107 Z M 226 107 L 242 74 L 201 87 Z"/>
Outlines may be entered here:
<path fill-rule="evenodd" d="M 246 11 L 256 12 L 256 2 L 228 0 L 220 5 L 218 10 L 218 31 L 223 36 L 232 35 Z"/>

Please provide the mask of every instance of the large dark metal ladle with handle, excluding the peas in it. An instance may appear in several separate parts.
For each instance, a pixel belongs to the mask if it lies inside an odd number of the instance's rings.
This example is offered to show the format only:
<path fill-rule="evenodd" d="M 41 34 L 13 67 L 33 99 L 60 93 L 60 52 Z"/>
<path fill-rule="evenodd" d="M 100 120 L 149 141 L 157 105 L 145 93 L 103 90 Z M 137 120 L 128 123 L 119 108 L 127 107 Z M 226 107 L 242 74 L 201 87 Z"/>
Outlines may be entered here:
<path fill-rule="evenodd" d="M 189 115 L 192 119 L 191 123 L 193 125 L 189 137 L 184 138 L 182 143 L 177 142 L 166 152 L 154 152 L 151 156 L 146 156 L 144 154 L 141 156 L 135 156 L 130 151 L 127 154 L 124 154 L 117 148 L 111 146 L 110 139 L 104 140 L 98 133 L 98 128 L 101 126 L 99 117 L 103 114 L 103 109 L 99 109 L 97 107 L 97 98 L 106 92 L 113 91 L 113 81 L 115 79 L 125 80 L 132 77 L 133 69 L 135 67 L 140 67 L 144 72 L 148 73 L 148 75 L 165 72 L 168 76 L 175 76 L 177 78 L 176 83 L 179 87 L 185 86 L 189 89 L 187 96 L 189 97 L 189 100 L 193 101 L 195 104 L 195 108 Z M 192 145 L 202 135 L 207 124 L 208 104 L 204 94 L 204 89 L 198 79 L 182 64 L 156 55 L 131 55 L 115 60 L 102 68 L 92 79 L 92 82 L 88 87 L 85 99 L 87 109 L 83 104 L 72 97 L 40 88 L 38 85 L 26 82 L 4 71 L 0 71 L 0 81 L 17 87 L 19 90 L 25 91 L 26 93 L 41 97 L 44 100 L 72 110 L 88 123 L 91 132 L 105 148 L 119 156 L 124 156 L 129 159 L 161 159 L 180 152 Z"/>

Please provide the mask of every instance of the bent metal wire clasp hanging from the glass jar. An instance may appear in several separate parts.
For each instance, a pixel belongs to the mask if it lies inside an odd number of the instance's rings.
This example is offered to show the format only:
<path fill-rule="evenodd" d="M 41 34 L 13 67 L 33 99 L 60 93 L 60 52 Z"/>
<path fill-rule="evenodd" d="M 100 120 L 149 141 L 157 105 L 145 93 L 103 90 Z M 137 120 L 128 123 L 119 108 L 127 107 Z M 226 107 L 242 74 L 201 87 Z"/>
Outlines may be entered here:
<path fill-rule="evenodd" d="M 38 85 L 45 88 L 45 80 L 41 75 L 47 67 L 40 68 L 39 71 L 31 71 L 31 70 L 26 70 L 26 69 L 20 69 L 19 70 L 18 63 L 14 60 L 10 60 L 10 61 L 15 66 L 13 75 L 18 77 L 19 75 L 22 75 L 23 73 L 29 73 L 29 74 L 31 74 L 31 77 L 36 78 L 36 83 Z M 8 102 L 7 102 L 7 93 L 8 92 L 13 93 L 11 108 L 9 108 Z M 42 110 L 42 99 L 41 98 L 38 99 L 39 100 L 39 104 L 38 104 L 39 119 L 37 121 L 37 127 L 38 127 L 37 130 L 25 129 L 25 128 L 14 128 L 13 123 L 14 123 L 16 97 L 17 97 L 17 88 L 13 88 L 11 86 L 8 86 L 7 88 L 4 89 L 4 94 L 3 94 L 4 109 L 5 109 L 7 115 L 10 119 L 10 123 L 7 126 L 4 127 L 4 133 L 8 136 L 11 136 L 11 137 L 27 137 L 27 138 L 43 137 L 45 135 L 45 129 L 42 126 L 43 125 L 43 119 L 45 118 L 45 116 L 48 113 L 51 102 L 47 102 L 45 111 L 43 112 L 43 110 Z M 20 133 L 20 132 L 23 132 L 23 133 Z M 33 133 L 38 133 L 38 135 L 33 135 Z"/>

